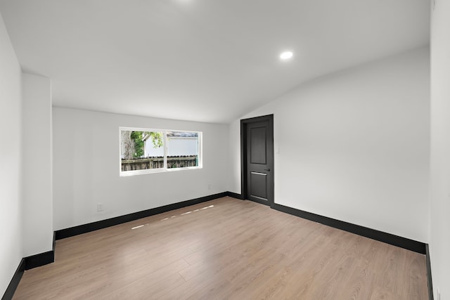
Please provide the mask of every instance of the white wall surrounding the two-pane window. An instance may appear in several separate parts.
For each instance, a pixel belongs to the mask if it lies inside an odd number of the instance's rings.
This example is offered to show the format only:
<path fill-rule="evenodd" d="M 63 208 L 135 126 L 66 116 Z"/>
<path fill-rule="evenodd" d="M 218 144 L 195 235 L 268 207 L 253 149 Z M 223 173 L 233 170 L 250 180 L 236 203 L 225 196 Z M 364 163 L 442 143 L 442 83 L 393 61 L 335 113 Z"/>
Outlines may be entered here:
<path fill-rule="evenodd" d="M 203 131 L 203 169 L 120 177 L 120 126 Z M 227 146 L 223 124 L 53 107 L 55 230 L 224 192 Z"/>

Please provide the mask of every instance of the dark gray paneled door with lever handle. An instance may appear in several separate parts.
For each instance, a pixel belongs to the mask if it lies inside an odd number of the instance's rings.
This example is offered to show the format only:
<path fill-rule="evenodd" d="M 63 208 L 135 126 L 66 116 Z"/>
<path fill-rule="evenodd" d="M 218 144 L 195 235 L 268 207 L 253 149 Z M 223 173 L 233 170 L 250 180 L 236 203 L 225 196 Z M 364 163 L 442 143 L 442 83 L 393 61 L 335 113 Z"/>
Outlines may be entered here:
<path fill-rule="evenodd" d="M 243 121 L 246 158 L 245 198 L 271 206 L 274 204 L 273 116 Z"/>

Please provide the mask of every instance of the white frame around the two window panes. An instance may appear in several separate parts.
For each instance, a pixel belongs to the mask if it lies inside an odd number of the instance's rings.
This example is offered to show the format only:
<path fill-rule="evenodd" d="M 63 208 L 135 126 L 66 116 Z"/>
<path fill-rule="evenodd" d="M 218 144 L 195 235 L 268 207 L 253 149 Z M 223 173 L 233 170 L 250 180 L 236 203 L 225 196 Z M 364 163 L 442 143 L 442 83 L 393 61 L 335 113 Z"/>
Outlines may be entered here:
<path fill-rule="evenodd" d="M 122 171 L 122 131 L 153 131 L 153 132 L 162 132 L 163 136 L 163 147 L 164 147 L 164 167 L 158 169 L 143 169 L 143 170 L 134 170 L 134 171 Z M 195 167 L 182 167 L 182 168 L 167 168 L 167 132 L 168 131 L 176 131 L 176 132 L 191 132 L 198 133 L 198 166 Z M 180 130 L 180 129 L 155 129 L 155 128 L 143 128 L 143 127 L 119 127 L 119 175 L 122 176 L 134 176 L 141 174 L 154 174 L 154 173 L 162 173 L 162 172 L 174 172 L 174 171 L 184 171 L 184 170 L 193 170 L 193 169 L 202 169 L 203 168 L 203 132 L 202 131 L 192 131 L 192 130 Z"/>

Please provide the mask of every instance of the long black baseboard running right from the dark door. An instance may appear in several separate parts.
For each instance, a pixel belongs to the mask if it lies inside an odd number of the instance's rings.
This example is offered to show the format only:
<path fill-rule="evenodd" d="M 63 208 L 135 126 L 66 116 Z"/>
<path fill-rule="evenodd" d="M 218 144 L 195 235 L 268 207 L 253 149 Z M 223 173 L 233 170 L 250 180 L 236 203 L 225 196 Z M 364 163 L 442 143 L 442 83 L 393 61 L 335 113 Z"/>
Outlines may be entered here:
<path fill-rule="evenodd" d="M 352 223 L 347 223 L 344 221 L 331 219 L 326 216 L 321 216 L 319 214 L 312 214 L 308 211 L 302 211 L 300 209 L 294 209 L 292 207 L 285 207 L 281 204 L 274 204 L 272 207 L 278 211 L 283 211 L 287 214 L 293 214 L 294 216 L 300 216 L 303 219 L 308 219 L 317 223 L 322 223 L 323 225 L 330 226 L 333 228 L 338 228 L 340 230 L 348 231 L 349 233 L 355 233 L 356 235 L 361 235 L 363 237 L 369 237 L 373 240 L 378 240 L 380 242 L 385 242 L 387 244 L 392 244 L 397 247 L 411 250 L 413 252 L 418 252 L 420 254 L 425 254 L 425 243 L 418 242 L 416 240 L 410 240 L 406 237 L 400 237 L 398 235 L 392 235 L 390 233 L 385 233 L 383 231 L 367 228 L 364 226 L 355 225 Z"/>

